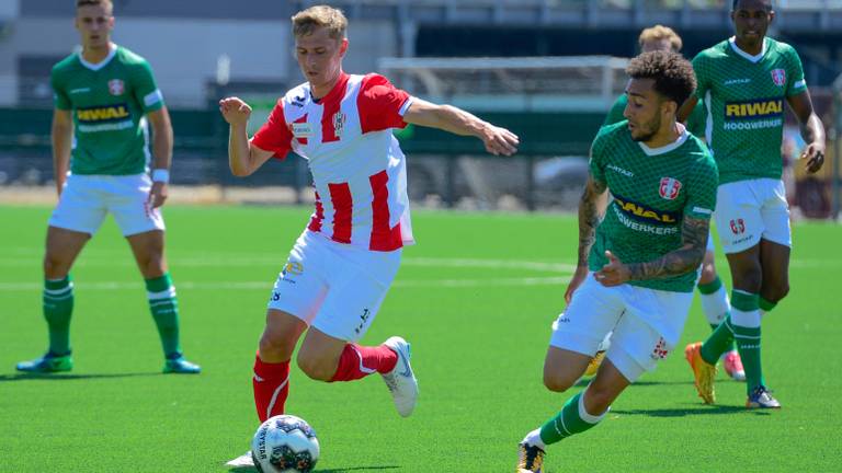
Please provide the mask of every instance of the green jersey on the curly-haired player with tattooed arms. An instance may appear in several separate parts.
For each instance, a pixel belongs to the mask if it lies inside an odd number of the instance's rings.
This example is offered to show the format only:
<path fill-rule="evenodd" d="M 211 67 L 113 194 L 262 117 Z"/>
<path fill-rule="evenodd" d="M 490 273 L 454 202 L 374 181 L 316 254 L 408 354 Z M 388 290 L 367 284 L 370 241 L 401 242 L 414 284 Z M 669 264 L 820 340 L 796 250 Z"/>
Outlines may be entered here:
<path fill-rule="evenodd" d="M 603 127 L 591 148 L 590 170 L 613 197 L 589 256 L 594 272 L 608 263 L 606 250 L 628 264 L 680 249 L 684 217 L 709 219 L 716 206 L 716 163 L 705 143 L 686 131 L 674 143 L 651 149 L 632 139 L 625 120 Z M 628 284 L 692 292 L 696 276 L 690 272 Z"/>

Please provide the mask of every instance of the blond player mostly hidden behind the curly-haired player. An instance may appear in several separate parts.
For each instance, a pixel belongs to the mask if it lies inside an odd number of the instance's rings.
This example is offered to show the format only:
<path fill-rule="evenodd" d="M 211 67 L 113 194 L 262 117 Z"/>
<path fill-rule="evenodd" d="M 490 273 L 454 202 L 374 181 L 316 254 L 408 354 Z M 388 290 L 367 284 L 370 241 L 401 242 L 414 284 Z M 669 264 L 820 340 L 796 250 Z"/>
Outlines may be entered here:
<path fill-rule="evenodd" d="M 683 45 L 681 36 L 679 36 L 672 28 L 662 25 L 655 25 L 648 27 L 640 33 L 638 38 L 641 53 L 648 53 L 651 50 L 671 50 L 673 53 L 680 53 Z M 623 114 L 625 113 L 628 97 L 626 94 L 621 95 L 614 105 L 605 116 L 605 123 L 603 126 L 612 125 L 625 119 Z M 693 134 L 697 138 L 704 139 L 705 137 L 705 109 L 704 104 L 699 102 L 693 108 L 693 113 L 685 122 L 687 131 Z M 731 310 L 730 302 L 728 301 L 728 291 L 722 286 L 719 275 L 716 273 L 715 253 L 714 253 L 714 240 L 708 238 L 707 252 L 705 252 L 705 259 L 702 263 L 702 276 L 698 278 L 698 285 L 696 286 L 702 300 L 702 310 L 705 313 L 707 322 L 710 324 L 712 330 L 716 330 L 725 318 L 728 316 Z M 596 369 L 605 356 L 605 350 L 611 346 L 610 337 L 605 337 L 603 344 L 600 346 L 600 350 L 596 351 L 596 356 L 593 361 L 588 365 L 585 377 L 592 377 L 596 374 Z M 742 368 L 742 361 L 740 355 L 733 349 L 733 344 L 725 350 L 720 357 L 722 366 L 728 377 L 736 381 L 746 381 L 746 372 Z"/>

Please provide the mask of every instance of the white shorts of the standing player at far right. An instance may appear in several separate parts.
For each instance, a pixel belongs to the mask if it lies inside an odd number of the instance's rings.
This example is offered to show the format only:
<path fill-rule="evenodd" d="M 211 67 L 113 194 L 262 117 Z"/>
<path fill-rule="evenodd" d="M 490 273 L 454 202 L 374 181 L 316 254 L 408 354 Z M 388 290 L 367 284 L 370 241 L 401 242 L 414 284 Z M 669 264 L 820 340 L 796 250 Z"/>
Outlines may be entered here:
<path fill-rule="evenodd" d="M 714 212 L 725 253 L 739 253 L 767 240 L 793 245 L 784 182 L 756 178 L 722 184 Z"/>

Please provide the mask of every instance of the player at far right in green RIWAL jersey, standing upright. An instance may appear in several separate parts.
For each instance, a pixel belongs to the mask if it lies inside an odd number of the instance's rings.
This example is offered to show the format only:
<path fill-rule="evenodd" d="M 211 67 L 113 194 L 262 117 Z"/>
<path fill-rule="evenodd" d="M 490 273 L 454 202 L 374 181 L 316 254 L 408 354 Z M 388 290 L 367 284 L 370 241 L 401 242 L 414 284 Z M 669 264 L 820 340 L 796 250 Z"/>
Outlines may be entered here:
<path fill-rule="evenodd" d="M 731 268 L 731 314 L 705 341 L 687 345 L 698 395 L 715 402 L 715 362 L 736 339 L 746 369 L 749 408 L 777 408 L 761 369 L 761 315 L 789 291 L 789 208 L 782 176 L 784 102 L 795 112 L 807 147 L 807 171 L 824 162 L 824 128 L 795 49 L 766 37 L 775 18 L 771 0 L 733 0 L 735 36 L 693 59 L 697 99 L 707 108 L 707 143 L 719 168 L 714 217 Z"/>

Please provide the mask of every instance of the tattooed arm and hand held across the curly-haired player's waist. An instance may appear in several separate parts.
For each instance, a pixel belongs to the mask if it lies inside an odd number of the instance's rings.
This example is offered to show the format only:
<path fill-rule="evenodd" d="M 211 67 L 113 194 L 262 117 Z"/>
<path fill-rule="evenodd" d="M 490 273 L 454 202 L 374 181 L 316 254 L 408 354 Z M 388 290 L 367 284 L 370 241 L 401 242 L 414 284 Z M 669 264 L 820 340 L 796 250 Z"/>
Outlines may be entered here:
<path fill-rule="evenodd" d="M 690 273 L 696 269 L 705 257 L 709 228 L 709 220 L 685 216 L 680 249 L 658 259 L 633 264 L 624 264 L 611 252 L 606 252 L 608 264 L 596 273 L 596 279 L 604 286 L 618 286 L 628 280 L 660 279 Z"/>

